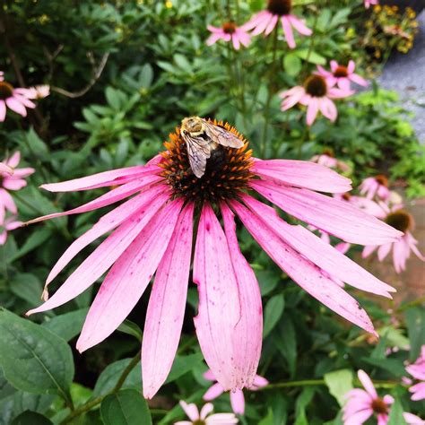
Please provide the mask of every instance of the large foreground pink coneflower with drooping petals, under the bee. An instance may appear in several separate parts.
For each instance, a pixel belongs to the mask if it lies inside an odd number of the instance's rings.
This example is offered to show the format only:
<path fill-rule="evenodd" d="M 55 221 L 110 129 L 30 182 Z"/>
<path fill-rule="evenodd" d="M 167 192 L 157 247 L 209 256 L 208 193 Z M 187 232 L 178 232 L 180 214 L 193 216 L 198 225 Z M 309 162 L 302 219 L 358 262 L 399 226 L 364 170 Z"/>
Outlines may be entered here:
<path fill-rule="evenodd" d="M 151 398 L 169 374 L 181 334 L 197 229 L 193 281 L 199 292 L 196 334 L 204 359 L 225 390 L 252 386 L 262 342 L 262 304 L 256 275 L 242 256 L 234 213 L 254 239 L 291 278 L 328 308 L 374 333 L 359 303 L 320 272 L 361 290 L 390 297 L 395 291 L 302 226 L 248 195 L 263 195 L 285 212 L 351 243 L 394 241 L 402 234 L 366 212 L 315 190 L 344 193 L 350 180 L 332 169 L 299 160 L 256 160 L 247 141 L 228 124 L 212 122 L 236 135 L 240 149 L 219 145 L 204 175 L 190 168 L 180 129 L 169 134 L 162 152 L 145 166 L 115 169 L 64 183 L 44 185 L 51 192 L 117 186 L 68 212 L 89 212 L 133 198 L 108 212 L 59 258 L 46 282 L 93 240 L 112 233 L 82 262 L 56 293 L 29 314 L 74 299 L 110 268 L 77 342 L 79 351 L 100 343 L 125 320 L 156 271 L 143 332 L 143 393 Z M 224 231 L 217 214 L 221 215 Z M 199 217 L 199 221 L 197 220 Z M 194 221 L 198 224 L 195 227 Z"/>

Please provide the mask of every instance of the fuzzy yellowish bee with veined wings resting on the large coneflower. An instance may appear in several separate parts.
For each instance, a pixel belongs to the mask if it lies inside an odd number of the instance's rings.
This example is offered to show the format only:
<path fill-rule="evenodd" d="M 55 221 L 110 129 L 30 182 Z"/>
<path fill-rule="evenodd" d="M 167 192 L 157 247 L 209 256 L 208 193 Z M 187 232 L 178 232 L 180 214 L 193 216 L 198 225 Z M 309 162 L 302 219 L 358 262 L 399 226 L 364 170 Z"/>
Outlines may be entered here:
<path fill-rule="evenodd" d="M 205 173 L 206 160 L 219 144 L 239 149 L 244 143 L 225 128 L 214 126 L 204 118 L 186 117 L 181 122 L 180 134 L 186 142 L 190 168 L 197 178 Z"/>

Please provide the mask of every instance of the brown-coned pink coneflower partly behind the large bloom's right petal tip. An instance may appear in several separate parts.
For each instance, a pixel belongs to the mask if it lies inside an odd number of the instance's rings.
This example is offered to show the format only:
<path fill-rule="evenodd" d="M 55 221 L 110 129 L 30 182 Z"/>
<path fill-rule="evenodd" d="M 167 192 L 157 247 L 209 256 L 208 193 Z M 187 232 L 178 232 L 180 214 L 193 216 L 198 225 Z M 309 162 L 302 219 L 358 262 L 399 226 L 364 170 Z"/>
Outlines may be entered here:
<path fill-rule="evenodd" d="M 383 202 L 377 204 L 369 200 L 369 204 L 363 204 L 363 209 L 404 233 L 402 238 L 383 244 L 380 247 L 376 245 L 364 247 L 363 258 L 370 256 L 377 249 L 377 258 L 379 261 L 383 261 L 393 250 L 393 263 L 397 273 L 401 273 L 406 269 L 406 261 L 411 256 L 411 251 L 421 261 L 425 261 L 425 257 L 421 255 L 418 247 L 416 247 L 418 241 L 412 236 L 412 230 L 414 229 L 412 214 L 403 209 L 403 204 L 390 207 Z"/>

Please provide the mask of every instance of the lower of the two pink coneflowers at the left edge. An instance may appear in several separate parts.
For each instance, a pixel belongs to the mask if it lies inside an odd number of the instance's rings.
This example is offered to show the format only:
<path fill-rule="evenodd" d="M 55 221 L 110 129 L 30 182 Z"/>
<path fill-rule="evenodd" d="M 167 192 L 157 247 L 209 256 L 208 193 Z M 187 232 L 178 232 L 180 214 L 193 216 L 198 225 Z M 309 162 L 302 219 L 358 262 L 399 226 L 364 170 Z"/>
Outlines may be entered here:
<path fill-rule="evenodd" d="M 18 212 L 13 197 L 8 190 L 20 190 L 22 187 L 27 186 L 24 178 L 27 178 L 35 171 L 35 169 L 31 168 L 16 169 L 20 160 L 21 152 L 14 152 L 9 159 L 2 162 L 3 167 L 7 169 L 0 169 L 0 222 L 4 220 L 6 211 L 12 214 Z"/>

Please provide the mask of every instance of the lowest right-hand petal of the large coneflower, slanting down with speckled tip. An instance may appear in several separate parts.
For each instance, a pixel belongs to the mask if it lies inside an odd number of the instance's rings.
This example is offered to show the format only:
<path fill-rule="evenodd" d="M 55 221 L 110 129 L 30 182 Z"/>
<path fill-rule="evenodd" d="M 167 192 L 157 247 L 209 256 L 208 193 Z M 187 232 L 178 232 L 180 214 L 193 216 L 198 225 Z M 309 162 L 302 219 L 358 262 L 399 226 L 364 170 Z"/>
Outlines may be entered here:
<path fill-rule="evenodd" d="M 376 334 L 366 311 L 351 295 L 321 273 L 316 265 L 299 255 L 273 230 L 266 228 L 265 222 L 254 212 L 250 212 L 236 201 L 232 201 L 231 206 L 268 256 L 304 291 L 353 324 L 359 325 L 371 334 Z"/>

